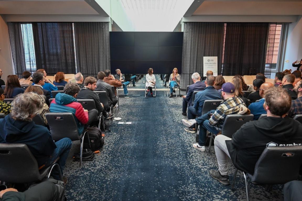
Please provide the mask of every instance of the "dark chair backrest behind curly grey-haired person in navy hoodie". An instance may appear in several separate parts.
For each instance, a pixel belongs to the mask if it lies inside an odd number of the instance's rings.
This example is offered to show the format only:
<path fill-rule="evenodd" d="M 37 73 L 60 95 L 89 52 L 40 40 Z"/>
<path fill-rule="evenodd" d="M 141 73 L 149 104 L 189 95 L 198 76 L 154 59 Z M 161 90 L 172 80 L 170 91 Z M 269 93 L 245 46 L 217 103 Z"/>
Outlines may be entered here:
<path fill-rule="evenodd" d="M 26 144 L 0 143 L 0 181 L 29 183 L 42 180 L 38 163 Z"/>

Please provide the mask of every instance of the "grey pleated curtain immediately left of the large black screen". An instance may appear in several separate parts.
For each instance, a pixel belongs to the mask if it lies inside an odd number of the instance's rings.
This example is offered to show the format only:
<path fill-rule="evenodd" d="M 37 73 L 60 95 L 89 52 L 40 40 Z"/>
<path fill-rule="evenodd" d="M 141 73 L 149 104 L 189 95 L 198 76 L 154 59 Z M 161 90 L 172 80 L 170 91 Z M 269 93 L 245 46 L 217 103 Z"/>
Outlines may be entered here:
<path fill-rule="evenodd" d="M 77 69 L 85 76 L 95 77 L 110 69 L 108 22 L 74 23 Z"/>

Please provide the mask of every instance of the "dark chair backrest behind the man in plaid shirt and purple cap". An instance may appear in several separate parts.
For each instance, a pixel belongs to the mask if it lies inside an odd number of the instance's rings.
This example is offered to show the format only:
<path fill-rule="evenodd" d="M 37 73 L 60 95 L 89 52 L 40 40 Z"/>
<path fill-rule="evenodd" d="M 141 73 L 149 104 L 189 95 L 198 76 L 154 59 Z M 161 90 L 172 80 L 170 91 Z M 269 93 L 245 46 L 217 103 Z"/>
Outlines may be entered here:
<path fill-rule="evenodd" d="M 226 115 L 223 122 L 221 134 L 232 138 L 233 134 L 236 133 L 239 128 L 246 122 L 253 121 L 254 115 Z"/>

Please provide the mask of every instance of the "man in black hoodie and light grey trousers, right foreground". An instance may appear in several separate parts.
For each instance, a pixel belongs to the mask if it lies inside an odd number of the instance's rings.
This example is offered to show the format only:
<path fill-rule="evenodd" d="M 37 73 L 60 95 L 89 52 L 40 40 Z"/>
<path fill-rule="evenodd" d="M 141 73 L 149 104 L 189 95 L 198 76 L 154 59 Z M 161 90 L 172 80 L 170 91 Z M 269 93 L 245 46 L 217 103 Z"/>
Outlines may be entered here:
<path fill-rule="evenodd" d="M 219 135 L 215 138 L 218 171 L 210 175 L 224 185 L 229 185 L 227 157 L 239 170 L 254 173 L 255 164 L 267 146 L 295 146 L 302 143 L 302 125 L 287 116 L 291 97 L 280 87 L 265 91 L 267 117 L 244 124 L 232 138 Z"/>

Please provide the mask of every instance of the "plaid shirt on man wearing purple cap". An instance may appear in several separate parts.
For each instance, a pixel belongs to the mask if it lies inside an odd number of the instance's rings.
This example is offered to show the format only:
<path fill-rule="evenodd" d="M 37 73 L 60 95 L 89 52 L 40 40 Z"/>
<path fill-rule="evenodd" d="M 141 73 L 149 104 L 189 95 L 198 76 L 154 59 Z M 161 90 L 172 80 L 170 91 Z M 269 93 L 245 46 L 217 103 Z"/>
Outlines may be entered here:
<path fill-rule="evenodd" d="M 241 98 L 233 96 L 232 98 L 225 99 L 217 107 L 214 115 L 209 119 L 210 126 L 217 126 L 221 130 L 226 115 L 237 114 L 239 112 L 240 106 L 245 105 Z"/>

